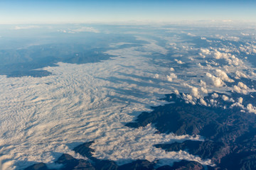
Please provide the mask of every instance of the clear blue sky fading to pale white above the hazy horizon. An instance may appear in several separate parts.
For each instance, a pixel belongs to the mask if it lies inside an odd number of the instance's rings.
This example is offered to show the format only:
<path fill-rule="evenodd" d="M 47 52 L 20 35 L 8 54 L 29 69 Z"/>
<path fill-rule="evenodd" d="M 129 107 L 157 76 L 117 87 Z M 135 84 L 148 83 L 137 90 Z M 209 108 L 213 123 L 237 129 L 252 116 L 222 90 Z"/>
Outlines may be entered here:
<path fill-rule="evenodd" d="M 0 24 L 256 21 L 255 0 L 1 0 Z"/>

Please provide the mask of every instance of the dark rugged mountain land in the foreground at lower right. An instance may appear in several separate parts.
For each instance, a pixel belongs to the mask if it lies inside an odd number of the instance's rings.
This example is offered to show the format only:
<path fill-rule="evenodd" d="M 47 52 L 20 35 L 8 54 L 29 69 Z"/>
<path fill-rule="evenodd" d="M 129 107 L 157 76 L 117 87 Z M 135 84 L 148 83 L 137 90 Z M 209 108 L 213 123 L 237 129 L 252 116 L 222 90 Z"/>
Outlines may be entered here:
<path fill-rule="evenodd" d="M 215 98 L 218 106 L 201 106 L 187 103 L 181 94 L 166 95 L 166 100 L 172 103 L 153 107 L 150 113 L 141 113 L 137 120 L 127 123 L 130 128 L 144 127 L 151 123 L 158 133 L 174 133 L 176 135 L 201 135 L 204 141 L 186 140 L 182 143 L 164 143 L 155 147 L 166 152 L 187 151 L 198 155 L 201 159 L 210 159 L 215 166 L 203 166 L 198 162 L 181 160 L 173 166 L 157 166 L 158 161 L 131 160 L 131 163 L 118 166 L 114 161 L 93 157 L 92 142 L 85 142 L 73 150 L 89 160 L 75 159 L 63 154 L 55 163 L 63 164 L 61 169 L 256 169 L 256 115 L 245 113 L 238 106 L 230 108 L 231 104 L 223 101 L 221 95 Z M 251 93 L 243 95 L 248 102 Z M 228 96 L 235 98 L 238 94 Z M 212 94 L 204 97 L 210 101 Z M 251 100 L 250 100 L 251 101 Z M 255 102 L 255 101 L 254 101 Z M 252 103 L 255 104 L 255 103 Z M 222 106 L 228 106 L 223 108 Z M 46 164 L 39 163 L 28 169 L 48 169 Z"/>

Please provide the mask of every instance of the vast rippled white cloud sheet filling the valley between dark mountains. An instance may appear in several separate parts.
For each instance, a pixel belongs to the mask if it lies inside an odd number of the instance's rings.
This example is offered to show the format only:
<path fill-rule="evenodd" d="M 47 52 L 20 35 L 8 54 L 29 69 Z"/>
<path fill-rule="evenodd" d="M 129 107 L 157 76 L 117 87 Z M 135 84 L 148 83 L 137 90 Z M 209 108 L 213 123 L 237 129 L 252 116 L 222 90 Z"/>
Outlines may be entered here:
<path fill-rule="evenodd" d="M 0 141 L 1 154 L 11 157 L 14 163 L 29 160 L 19 164 L 21 168 L 18 168 L 23 169 L 33 162 L 54 162 L 61 153 L 74 154 L 70 148 L 95 140 L 92 145 L 95 157 L 117 160 L 119 164 L 125 159 L 165 158 L 193 159 L 208 164 L 209 160 L 187 152 L 165 152 L 153 146 L 176 140 L 198 140 L 198 137 L 155 134 L 156 129 L 151 125 L 135 130 L 124 127 L 137 113 L 151 111 L 147 106 L 166 103 L 158 98 L 174 88 L 164 83 L 149 86 L 148 81 L 144 83 L 137 78 L 152 77 L 154 74 L 149 74 L 149 70 L 160 71 L 149 58 L 139 57 L 144 53 L 136 48 L 107 53 L 119 57 L 88 64 L 58 63 L 59 67 L 45 68 L 53 72 L 48 77 L 0 76 L 0 132 L 8 136 Z M 178 94 L 178 90 L 174 92 Z M 195 104 L 191 95 L 186 98 Z M 12 167 L 14 163 L 9 161 Z"/>

